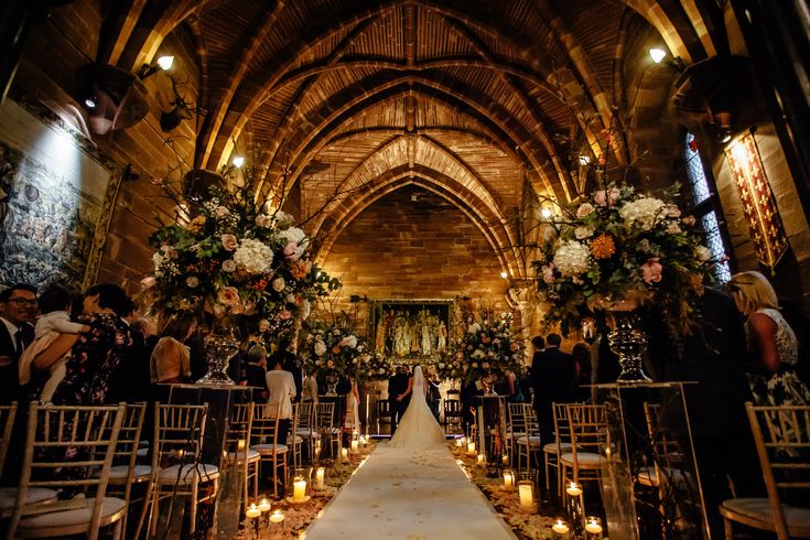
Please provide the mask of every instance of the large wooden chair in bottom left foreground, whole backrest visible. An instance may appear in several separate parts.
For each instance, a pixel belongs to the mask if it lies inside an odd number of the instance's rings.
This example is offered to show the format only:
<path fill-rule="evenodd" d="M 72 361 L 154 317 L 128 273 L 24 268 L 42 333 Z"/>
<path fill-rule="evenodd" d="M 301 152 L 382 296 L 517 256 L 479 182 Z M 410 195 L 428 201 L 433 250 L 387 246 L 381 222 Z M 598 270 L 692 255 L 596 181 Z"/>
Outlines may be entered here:
<path fill-rule="evenodd" d="M 101 527 L 116 526 L 121 537 L 123 499 L 107 497 L 112 457 L 125 404 L 71 407 L 31 403 L 22 476 L 7 538 L 98 538 Z M 75 456 L 67 460 L 67 455 Z M 98 468 L 98 475 L 90 474 Z M 57 473 L 58 471 L 58 473 Z M 47 487 L 94 495 L 26 505 L 30 489 Z M 91 489 L 95 488 L 95 493 Z"/>

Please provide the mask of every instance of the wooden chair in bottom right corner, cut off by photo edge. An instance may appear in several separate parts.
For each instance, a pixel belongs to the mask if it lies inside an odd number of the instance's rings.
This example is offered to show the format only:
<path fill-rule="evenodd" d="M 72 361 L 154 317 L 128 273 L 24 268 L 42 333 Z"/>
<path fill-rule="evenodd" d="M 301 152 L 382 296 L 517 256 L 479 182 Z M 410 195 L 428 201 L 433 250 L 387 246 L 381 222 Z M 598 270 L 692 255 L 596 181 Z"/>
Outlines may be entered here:
<path fill-rule="evenodd" d="M 779 540 L 810 538 L 810 508 L 781 503 L 779 492 L 810 488 L 810 406 L 755 407 L 745 403 L 768 498 L 724 500 L 725 538 L 733 523 L 776 532 Z M 807 499 L 804 499 L 807 503 Z"/>

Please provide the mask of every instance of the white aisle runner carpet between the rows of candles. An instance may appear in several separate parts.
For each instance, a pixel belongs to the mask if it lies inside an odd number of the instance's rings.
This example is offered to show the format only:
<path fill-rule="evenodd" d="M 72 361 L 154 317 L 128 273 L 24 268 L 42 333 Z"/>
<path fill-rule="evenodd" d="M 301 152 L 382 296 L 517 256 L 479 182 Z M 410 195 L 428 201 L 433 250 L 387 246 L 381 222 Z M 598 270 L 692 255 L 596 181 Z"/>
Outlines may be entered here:
<path fill-rule="evenodd" d="M 413 454 L 380 443 L 306 531 L 306 540 L 515 538 L 450 449 Z"/>

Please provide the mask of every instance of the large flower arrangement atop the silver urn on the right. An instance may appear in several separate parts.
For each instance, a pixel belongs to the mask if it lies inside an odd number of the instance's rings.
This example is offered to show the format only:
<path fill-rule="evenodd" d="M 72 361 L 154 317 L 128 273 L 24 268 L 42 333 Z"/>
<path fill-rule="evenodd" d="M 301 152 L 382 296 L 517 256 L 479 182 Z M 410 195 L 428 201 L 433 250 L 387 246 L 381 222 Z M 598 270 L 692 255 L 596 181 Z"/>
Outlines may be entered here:
<path fill-rule="evenodd" d="M 698 291 L 711 277 L 711 252 L 691 216 L 661 197 L 609 184 L 572 202 L 544 225 L 541 257 L 532 262 L 547 323 L 563 333 L 579 325 L 585 307 L 659 304 L 674 328 L 688 333 Z"/>

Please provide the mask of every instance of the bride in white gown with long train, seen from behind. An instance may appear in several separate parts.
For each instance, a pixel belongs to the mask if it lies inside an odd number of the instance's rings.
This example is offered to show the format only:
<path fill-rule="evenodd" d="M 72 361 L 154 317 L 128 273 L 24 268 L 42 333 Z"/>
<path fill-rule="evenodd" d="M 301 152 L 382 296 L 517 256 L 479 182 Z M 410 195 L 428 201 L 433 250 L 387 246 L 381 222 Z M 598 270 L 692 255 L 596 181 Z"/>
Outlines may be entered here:
<path fill-rule="evenodd" d="M 410 392 L 411 402 L 391 438 L 391 446 L 419 450 L 445 444 L 444 431 L 436 422 L 430 407 L 428 407 L 428 401 L 424 398 L 425 391 L 426 386 L 422 376 L 422 367 L 417 366 L 413 370 L 413 377 L 409 381 L 408 390 L 401 396 L 401 398 L 404 398 Z"/>

